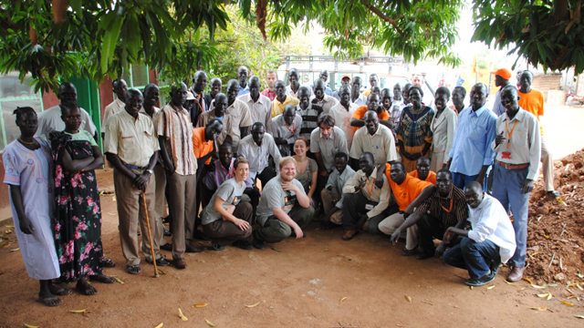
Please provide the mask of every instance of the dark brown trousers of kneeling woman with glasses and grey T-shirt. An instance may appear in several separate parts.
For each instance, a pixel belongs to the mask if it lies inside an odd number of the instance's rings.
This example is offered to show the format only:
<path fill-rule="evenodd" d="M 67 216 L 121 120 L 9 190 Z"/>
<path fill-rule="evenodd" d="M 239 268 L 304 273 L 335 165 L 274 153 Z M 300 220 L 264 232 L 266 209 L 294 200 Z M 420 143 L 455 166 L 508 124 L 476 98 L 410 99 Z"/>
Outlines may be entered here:
<path fill-rule="evenodd" d="M 239 204 L 235 206 L 234 216 L 237 219 L 247 221 L 247 223 L 249 223 L 248 229 L 242 231 L 234 222 L 219 219 L 214 220 L 209 224 L 204 224 L 203 231 L 209 238 L 223 246 L 229 245 L 234 241 L 245 240 L 252 234 L 251 225 L 253 215 L 254 210 L 252 209 L 252 204 L 247 201 L 240 201 Z"/>

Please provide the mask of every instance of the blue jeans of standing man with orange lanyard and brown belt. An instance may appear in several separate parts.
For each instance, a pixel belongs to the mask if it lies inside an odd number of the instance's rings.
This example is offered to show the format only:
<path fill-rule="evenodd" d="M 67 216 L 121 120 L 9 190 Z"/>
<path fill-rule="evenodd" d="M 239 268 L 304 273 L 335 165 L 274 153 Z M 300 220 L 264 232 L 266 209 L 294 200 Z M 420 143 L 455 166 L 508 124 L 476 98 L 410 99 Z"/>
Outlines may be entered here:
<path fill-rule="evenodd" d="M 529 192 L 523 193 L 521 187 L 527 178 L 528 171 L 529 168 L 506 169 L 495 164 L 493 178 L 493 197 L 499 200 L 507 213 L 509 213 L 509 207 L 513 210 L 513 229 L 517 248 L 509 260 L 509 265 L 519 268 L 526 266 Z"/>

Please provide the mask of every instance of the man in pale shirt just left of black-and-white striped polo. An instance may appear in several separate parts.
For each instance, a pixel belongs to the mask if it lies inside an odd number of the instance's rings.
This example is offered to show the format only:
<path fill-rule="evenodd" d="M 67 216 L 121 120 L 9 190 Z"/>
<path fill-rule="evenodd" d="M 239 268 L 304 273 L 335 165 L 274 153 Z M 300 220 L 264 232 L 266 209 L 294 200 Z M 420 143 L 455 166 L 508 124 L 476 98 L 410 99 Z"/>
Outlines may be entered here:
<path fill-rule="evenodd" d="M 297 115 L 296 108 L 288 105 L 284 108 L 284 114 L 272 118 L 270 125 L 273 131 L 272 136 L 282 157 L 292 155 L 294 142 L 300 134 L 299 127 L 302 126 L 302 118 Z"/>

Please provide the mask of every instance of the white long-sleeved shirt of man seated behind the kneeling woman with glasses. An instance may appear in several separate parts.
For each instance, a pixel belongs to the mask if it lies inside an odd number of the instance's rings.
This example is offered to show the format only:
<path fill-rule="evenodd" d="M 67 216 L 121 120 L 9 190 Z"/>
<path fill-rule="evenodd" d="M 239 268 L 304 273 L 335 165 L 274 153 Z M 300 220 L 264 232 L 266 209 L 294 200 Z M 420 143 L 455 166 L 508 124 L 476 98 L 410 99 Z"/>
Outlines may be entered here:
<path fill-rule="evenodd" d="M 257 146 L 251 134 L 245 136 L 239 142 L 237 155 L 249 160 L 249 176 L 252 177 L 252 180 L 255 180 L 257 174 L 262 173 L 267 168 L 270 155 L 274 158 L 276 166 L 282 159 L 280 150 L 277 149 L 276 142 L 274 142 L 274 137 L 267 133 L 264 135 L 261 146 Z"/>

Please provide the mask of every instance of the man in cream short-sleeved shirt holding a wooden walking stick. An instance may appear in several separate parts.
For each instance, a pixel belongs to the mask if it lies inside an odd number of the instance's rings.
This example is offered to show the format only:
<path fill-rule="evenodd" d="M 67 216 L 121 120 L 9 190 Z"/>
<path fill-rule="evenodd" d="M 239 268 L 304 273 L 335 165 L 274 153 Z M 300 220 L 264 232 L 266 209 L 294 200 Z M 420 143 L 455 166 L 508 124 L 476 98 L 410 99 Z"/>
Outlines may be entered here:
<path fill-rule="evenodd" d="M 104 142 L 104 152 L 114 168 L 121 251 L 126 258 L 126 271 L 130 274 L 141 273 L 136 236 L 138 223 L 142 232 L 149 231 L 147 220 L 151 227 L 156 224 L 152 169 L 156 165 L 160 145 L 151 118 L 139 113 L 142 102 L 139 90 L 128 90 L 125 110 L 112 115 L 106 122 Z M 141 251 L 146 262 L 152 263 L 153 248 L 156 264 L 165 266 L 169 262 L 160 254 L 160 238 L 159 235 L 142 234 Z"/>

